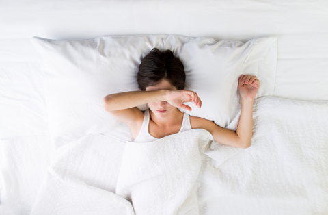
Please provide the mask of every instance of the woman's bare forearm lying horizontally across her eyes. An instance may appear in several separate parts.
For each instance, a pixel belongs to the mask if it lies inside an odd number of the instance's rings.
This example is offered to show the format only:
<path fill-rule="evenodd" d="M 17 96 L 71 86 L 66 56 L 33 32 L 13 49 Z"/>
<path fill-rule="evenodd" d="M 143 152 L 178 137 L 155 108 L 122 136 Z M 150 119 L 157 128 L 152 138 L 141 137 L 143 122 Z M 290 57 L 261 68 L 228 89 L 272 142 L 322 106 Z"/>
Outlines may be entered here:
<path fill-rule="evenodd" d="M 154 90 L 108 94 L 103 99 L 103 105 L 108 111 L 133 108 L 146 103 L 165 101 L 166 93 L 167 90 Z"/>

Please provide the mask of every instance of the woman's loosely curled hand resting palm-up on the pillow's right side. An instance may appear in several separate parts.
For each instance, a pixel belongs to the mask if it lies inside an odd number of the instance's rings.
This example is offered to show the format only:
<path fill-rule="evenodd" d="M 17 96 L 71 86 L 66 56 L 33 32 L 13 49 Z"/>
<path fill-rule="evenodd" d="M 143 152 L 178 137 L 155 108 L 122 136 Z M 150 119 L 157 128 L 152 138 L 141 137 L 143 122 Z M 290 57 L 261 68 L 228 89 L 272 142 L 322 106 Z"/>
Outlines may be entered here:
<path fill-rule="evenodd" d="M 253 75 L 241 75 L 238 79 L 238 90 L 243 99 L 253 100 L 260 88 L 260 81 Z"/>

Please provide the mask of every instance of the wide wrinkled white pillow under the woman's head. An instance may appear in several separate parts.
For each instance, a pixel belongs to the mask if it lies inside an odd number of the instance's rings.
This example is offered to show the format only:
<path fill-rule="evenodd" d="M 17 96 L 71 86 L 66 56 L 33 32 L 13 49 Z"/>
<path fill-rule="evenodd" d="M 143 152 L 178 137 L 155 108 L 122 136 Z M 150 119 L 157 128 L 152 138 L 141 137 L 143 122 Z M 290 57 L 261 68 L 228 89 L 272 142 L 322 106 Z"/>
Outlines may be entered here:
<path fill-rule="evenodd" d="M 241 109 L 238 77 L 256 75 L 257 97 L 272 95 L 277 38 L 240 41 L 178 35 L 99 36 L 89 40 L 31 39 L 45 77 L 49 129 L 55 147 L 85 134 L 106 134 L 118 125 L 102 108 L 107 94 L 139 90 L 137 72 L 152 48 L 170 49 L 184 64 L 186 90 L 202 99 L 191 116 L 226 127 Z M 187 112 L 187 111 L 186 111 Z"/>

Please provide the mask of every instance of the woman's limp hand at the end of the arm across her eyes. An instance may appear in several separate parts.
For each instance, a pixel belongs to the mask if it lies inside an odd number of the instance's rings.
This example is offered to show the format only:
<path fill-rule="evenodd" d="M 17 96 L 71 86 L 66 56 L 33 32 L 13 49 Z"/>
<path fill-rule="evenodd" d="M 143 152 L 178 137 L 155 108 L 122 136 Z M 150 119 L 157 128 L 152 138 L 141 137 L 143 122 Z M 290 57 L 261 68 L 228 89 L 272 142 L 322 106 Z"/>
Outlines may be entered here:
<path fill-rule="evenodd" d="M 197 93 L 189 90 L 168 90 L 166 101 L 176 108 L 183 108 L 189 111 L 191 111 L 191 108 L 188 105 L 184 105 L 184 102 L 193 102 L 198 108 L 202 107 L 202 101 Z"/>

